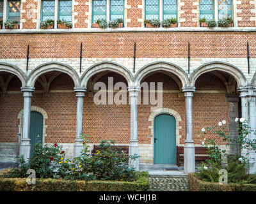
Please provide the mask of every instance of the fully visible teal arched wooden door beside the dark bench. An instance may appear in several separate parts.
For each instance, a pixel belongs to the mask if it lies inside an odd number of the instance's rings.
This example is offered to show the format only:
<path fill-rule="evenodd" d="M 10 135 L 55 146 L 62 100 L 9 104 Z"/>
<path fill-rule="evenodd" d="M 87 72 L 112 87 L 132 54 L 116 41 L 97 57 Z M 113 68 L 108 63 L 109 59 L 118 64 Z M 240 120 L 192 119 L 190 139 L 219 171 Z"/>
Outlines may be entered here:
<path fill-rule="evenodd" d="M 176 164 L 176 121 L 161 114 L 154 119 L 154 164 Z"/>

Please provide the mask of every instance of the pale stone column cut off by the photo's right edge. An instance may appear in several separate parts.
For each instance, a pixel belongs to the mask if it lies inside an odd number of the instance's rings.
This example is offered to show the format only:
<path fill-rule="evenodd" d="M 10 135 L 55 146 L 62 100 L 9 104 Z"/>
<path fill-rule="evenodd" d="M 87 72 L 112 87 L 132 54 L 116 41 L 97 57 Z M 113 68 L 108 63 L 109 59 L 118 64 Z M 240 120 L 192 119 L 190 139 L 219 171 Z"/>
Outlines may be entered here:
<path fill-rule="evenodd" d="M 249 102 L 249 126 L 252 130 L 256 131 L 256 94 L 253 87 L 248 87 L 248 102 Z M 250 140 L 255 140 L 256 136 L 254 132 L 250 135 Z M 252 164 L 250 166 L 250 173 L 256 173 L 256 153 L 249 149 L 249 162 Z"/>

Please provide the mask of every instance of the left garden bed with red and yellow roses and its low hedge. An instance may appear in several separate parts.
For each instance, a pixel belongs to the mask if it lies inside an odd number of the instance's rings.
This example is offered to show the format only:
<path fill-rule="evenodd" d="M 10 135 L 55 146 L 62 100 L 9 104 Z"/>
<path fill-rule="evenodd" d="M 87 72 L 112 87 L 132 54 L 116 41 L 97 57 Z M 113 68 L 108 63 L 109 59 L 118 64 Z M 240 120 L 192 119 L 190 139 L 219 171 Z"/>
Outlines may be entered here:
<path fill-rule="evenodd" d="M 86 142 L 83 146 L 79 157 L 68 159 L 58 143 L 44 147 L 36 143 L 28 161 L 20 157 L 19 168 L 1 171 L 0 191 L 148 190 L 148 173 L 138 172 L 127 165 L 127 159 L 132 161 L 138 155 L 127 156 L 125 152 L 115 151 L 112 140 L 100 141 L 100 150 L 95 156 L 89 154 Z M 31 179 L 28 181 L 28 178 Z"/>

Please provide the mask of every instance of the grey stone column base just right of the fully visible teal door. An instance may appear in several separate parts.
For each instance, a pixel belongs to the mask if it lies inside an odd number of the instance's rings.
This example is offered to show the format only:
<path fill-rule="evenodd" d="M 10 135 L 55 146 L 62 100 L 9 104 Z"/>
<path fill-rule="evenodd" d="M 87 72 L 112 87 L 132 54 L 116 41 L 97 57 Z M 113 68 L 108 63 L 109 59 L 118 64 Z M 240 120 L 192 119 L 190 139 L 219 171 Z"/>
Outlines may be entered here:
<path fill-rule="evenodd" d="M 195 147 L 193 143 L 186 143 L 184 147 L 184 173 L 195 172 Z"/>

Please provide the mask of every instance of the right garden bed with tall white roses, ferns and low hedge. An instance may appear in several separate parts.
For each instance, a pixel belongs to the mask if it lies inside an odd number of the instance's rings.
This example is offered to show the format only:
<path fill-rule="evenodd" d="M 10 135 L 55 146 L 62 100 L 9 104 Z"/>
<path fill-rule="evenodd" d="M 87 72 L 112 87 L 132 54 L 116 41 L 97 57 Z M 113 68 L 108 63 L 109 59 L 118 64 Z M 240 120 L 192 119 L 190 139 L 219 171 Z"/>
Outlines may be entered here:
<path fill-rule="evenodd" d="M 249 154 L 256 152 L 255 130 L 243 118 L 235 122 L 236 137 L 230 136 L 225 120 L 218 126 L 198 131 L 211 159 L 202 162 L 196 173 L 189 173 L 191 191 L 256 191 L 256 164 L 248 159 Z M 227 148 L 216 145 L 217 139 L 209 137 L 212 133 L 218 135 L 218 141 L 225 143 Z"/>

